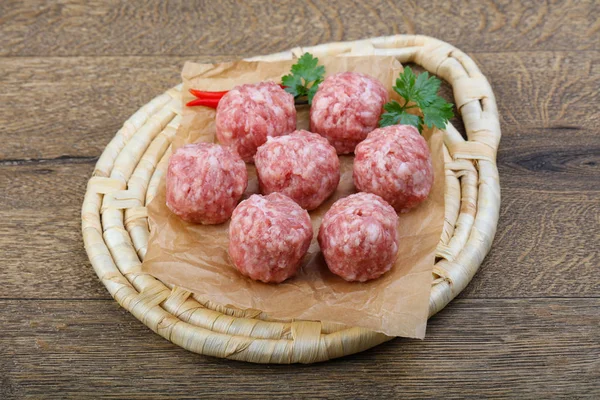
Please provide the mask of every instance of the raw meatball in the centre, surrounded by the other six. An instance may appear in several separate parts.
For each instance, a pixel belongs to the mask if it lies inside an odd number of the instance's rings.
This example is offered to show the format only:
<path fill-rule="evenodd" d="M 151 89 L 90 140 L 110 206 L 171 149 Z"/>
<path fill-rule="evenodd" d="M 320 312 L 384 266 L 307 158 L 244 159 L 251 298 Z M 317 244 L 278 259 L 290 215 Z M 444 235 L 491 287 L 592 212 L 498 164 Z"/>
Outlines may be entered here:
<path fill-rule="evenodd" d="M 327 139 L 308 131 L 267 138 L 254 157 L 260 191 L 283 193 L 300 207 L 317 208 L 337 188 L 340 160 Z"/>

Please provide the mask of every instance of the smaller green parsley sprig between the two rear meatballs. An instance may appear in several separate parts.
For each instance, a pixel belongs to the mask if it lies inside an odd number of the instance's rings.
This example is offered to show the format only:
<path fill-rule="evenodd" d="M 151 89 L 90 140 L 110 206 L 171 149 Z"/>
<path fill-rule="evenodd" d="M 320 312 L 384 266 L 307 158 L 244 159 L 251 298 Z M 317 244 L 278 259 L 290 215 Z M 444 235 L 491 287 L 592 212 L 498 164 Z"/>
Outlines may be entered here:
<path fill-rule="evenodd" d="M 318 58 L 304 53 L 298 62 L 292 65 L 292 73 L 281 78 L 285 91 L 291 93 L 294 99 L 307 97 L 308 104 L 312 104 L 312 98 L 325 75 L 325 67 L 318 63 Z"/>

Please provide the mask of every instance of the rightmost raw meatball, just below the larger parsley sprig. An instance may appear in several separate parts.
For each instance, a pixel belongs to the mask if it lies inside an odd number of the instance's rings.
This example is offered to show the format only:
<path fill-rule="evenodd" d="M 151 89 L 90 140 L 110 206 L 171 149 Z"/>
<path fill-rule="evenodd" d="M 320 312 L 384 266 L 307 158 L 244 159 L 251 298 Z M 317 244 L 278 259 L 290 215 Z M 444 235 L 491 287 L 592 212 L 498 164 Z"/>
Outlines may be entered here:
<path fill-rule="evenodd" d="M 427 142 L 410 125 L 376 129 L 356 147 L 354 185 L 383 197 L 398 212 L 417 206 L 433 185 Z"/>

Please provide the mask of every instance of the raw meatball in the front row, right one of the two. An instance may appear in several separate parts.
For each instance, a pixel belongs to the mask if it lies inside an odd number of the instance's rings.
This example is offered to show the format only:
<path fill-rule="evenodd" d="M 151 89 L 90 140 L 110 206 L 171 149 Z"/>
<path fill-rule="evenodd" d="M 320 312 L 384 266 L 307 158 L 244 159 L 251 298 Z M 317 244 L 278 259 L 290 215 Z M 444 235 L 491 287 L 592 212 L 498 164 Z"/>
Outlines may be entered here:
<path fill-rule="evenodd" d="M 347 281 L 380 277 L 396 261 L 397 225 L 394 209 L 374 194 L 336 201 L 323 217 L 318 236 L 329 270 Z"/>

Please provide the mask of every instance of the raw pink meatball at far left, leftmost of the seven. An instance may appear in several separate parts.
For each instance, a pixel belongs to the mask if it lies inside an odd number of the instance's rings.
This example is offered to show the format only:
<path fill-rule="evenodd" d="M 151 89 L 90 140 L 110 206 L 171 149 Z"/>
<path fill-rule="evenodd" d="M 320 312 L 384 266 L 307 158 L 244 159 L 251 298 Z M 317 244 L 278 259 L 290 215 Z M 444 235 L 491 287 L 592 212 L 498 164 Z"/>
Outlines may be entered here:
<path fill-rule="evenodd" d="M 237 154 L 213 143 L 188 144 L 169 159 L 167 207 L 185 221 L 220 224 L 246 186 L 246 164 Z"/>

